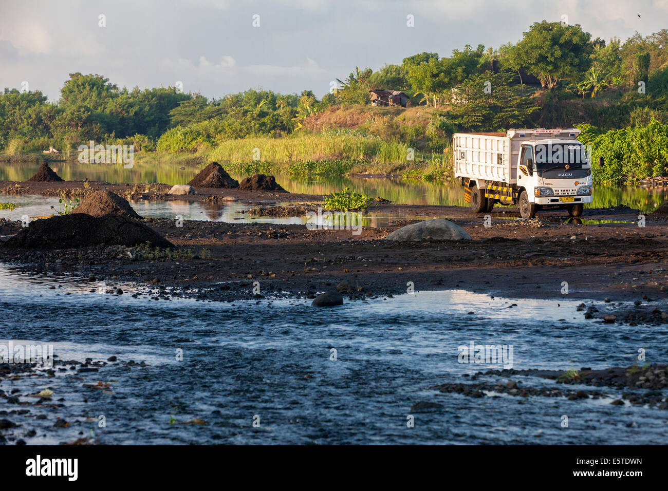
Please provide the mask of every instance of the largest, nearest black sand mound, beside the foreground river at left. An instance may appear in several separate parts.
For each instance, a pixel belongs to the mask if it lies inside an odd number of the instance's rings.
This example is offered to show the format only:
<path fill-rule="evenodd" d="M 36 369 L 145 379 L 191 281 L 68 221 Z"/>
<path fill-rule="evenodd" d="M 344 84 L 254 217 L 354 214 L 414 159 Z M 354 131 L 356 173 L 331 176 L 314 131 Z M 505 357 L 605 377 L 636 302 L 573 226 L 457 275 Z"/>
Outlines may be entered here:
<path fill-rule="evenodd" d="M 143 223 L 126 216 L 105 215 L 101 218 L 85 213 L 52 216 L 31 222 L 27 228 L 9 238 L 11 249 L 69 249 L 96 245 L 145 244 L 170 247 L 162 235 Z"/>

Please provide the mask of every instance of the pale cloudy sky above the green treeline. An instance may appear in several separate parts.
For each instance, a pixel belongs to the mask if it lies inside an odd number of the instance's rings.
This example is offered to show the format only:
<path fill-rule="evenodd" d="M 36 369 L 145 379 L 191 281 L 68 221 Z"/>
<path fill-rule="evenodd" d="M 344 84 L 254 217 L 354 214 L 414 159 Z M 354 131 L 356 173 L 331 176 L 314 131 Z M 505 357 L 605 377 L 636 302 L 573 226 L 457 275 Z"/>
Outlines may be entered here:
<path fill-rule="evenodd" d="M 55 101 L 79 71 L 208 98 L 321 97 L 355 67 L 496 48 L 543 19 L 624 41 L 668 27 L 668 0 L 0 0 L 0 88 Z"/>

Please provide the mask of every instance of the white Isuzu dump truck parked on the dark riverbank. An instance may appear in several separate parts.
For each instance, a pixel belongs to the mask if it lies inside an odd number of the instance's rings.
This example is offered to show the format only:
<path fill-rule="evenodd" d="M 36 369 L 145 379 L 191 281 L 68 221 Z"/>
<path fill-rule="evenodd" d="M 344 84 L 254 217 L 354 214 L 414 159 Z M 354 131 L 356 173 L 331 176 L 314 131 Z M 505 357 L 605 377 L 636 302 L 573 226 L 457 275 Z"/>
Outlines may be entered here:
<path fill-rule="evenodd" d="M 548 208 L 580 216 L 592 200 L 592 175 L 579 134 L 572 128 L 454 134 L 454 173 L 464 200 L 476 213 L 499 203 L 517 206 L 522 218 Z"/>

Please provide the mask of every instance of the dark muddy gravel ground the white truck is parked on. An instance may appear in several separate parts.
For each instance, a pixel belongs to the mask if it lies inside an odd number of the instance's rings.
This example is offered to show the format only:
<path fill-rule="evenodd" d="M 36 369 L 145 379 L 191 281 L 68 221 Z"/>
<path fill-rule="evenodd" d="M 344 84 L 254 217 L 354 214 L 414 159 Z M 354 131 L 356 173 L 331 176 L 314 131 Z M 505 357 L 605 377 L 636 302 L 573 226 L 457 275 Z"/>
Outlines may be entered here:
<path fill-rule="evenodd" d="M 29 192 L 81 189 L 79 182 L 0 183 L 29 187 Z M 138 187 L 143 187 L 138 186 Z M 94 182 L 90 189 L 120 193 L 129 186 Z M 164 196 L 164 184 L 152 184 L 148 198 L 203 200 L 232 196 L 251 203 L 308 202 L 322 196 L 198 189 L 194 196 Z M 189 255 L 149 254 L 141 248 L 119 247 L 56 251 L 10 251 L 0 247 L 0 261 L 26 269 L 75 271 L 108 281 L 138 281 L 154 287 L 196 291 L 213 300 L 253 298 L 253 281 L 261 295 L 311 298 L 341 287 L 353 299 L 415 291 L 466 289 L 504 297 L 609 299 L 636 301 L 632 311 L 621 311 L 629 322 L 661 321 L 668 310 L 668 222 L 649 215 L 639 226 L 638 210 L 585 210 L 578 224 L 564 210 L 540 212 L 534 220 L 516 220 L 516 208 L 496 206 L 490 226 L 484 214 L 461 206 L 377 204 L 367 210 L 397 218 L 391 226 L 351 230 L 308 230 L 304 225 L 244 224 L 186 220 L 176 226 L 167 218 L 146 219 Z M 413 219 L 415 217 L 415 219 Z M 418 218 L 419 217 L 419 218 Z M 470 242 L 393 242 L 392 230 L 422 218 L 448 218 L 464 227 Z M 0 222 L 2 235 L 20 230 L 19 222 Z M 224 283 L 221 282 L 234 282 Z M 568 293 L 562 293 L 568 283 Z M 653 313 L 652 313 L 653 312 Z M 664 314 L 665 316 L 665 314 Z M 594 317 L 597 317 L 594 315 Z"/>

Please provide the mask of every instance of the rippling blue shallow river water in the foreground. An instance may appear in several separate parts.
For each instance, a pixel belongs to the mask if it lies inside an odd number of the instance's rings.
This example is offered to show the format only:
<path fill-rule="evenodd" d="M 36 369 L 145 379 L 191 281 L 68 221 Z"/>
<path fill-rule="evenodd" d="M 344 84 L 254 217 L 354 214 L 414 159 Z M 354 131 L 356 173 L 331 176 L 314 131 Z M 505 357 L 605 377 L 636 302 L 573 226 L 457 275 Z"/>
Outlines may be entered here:
<path fill-rule="evenodd" d="M 668 360 L 664 327 L 585 321 L 576 311 L 582 299 L 418 291 L 316 310 L 303 299 L 203 303 L 97 293 L 115 288 L 0 266 L 1 339 L 52 344 L 60 359 L 116 355 L 149 365 L 3 381 L 7 393 L 51 387 L 53 399 L 65 399 L 58 410 L 21 406 L 31 416 L 11 416 L 37 430 L 28 443 L 71 441 L 91 430 L 107 444 L 664 444 L 668 436 L 668 412 L 655 407 L 614 406 L 612 399 L 474 399 L 429 388 L 501 368 L 458 363 L 458 346 L 470 341 L 512 345 L 516 369 L 626 366 L 639 347 L 652 363 Z M 98 381 L 111 389 L 82 388 Z M 407 428 L 411 405 L 422 400 L 444 409 L 413 414 L 415 428 Z M 0 414 L 12 409 L 0 402 Z M 47 419 L 33 420 L 37 414 Z M 560 426 L 564 414 L 567 429 Z M 56 415 L 70 428 L 51 428 Z M 260 428 L 253 428 L 254 416 Z M 194 418 L 206 425 L 182 424 Z"/>

